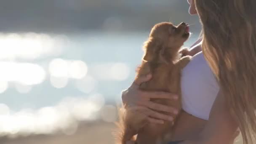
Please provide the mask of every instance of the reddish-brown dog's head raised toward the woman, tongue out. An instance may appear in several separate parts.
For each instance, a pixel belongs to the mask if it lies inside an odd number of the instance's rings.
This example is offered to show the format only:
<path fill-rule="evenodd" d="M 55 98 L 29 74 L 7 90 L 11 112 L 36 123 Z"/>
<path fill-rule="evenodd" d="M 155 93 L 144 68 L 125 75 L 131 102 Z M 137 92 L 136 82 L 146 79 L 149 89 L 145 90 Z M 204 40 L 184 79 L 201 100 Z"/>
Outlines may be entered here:
<path fill-rule="evenodd" d="M 156 24 L 145 43 L 144 61 L 171 61 L 171 57 L 178 54 L 179 49 L 189 38 L 189 27 L 182 22 L 178 26 L 170 22 Z"/>

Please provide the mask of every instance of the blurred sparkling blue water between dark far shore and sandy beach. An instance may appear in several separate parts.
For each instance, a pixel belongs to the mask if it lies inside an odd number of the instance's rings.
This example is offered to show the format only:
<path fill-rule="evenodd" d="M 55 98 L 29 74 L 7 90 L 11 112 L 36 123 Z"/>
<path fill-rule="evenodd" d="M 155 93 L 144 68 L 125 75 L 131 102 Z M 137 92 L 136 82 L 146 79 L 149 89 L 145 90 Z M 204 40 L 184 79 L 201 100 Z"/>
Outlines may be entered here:
<path fill-rule="evenodd" d="M 120 102 L 120 92 L 132 83 L 147 36 L 1 34 L 0 132 L 70 133 L 76 120 L 115 121 L 115 105 L 109 104 Z"/>

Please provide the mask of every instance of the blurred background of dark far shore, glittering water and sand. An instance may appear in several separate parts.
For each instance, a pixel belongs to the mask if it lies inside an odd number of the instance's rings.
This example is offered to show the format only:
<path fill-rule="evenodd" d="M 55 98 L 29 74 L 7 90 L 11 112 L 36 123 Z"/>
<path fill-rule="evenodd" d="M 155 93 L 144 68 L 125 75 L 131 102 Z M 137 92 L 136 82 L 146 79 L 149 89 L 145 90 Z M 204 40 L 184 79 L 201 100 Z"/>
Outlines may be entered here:
<path fill-rule="evenodd" d="M 113 144 L 120 93 L 154 24 L 186 0 L 1 0 L 0 143 Z"/>

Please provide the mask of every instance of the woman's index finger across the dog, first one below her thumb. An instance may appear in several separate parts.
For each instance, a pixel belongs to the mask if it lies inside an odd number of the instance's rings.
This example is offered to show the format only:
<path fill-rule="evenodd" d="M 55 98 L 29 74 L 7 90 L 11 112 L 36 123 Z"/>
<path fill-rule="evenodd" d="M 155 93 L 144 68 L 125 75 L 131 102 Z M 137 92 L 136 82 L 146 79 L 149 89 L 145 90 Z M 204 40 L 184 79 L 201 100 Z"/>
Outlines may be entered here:
<path fill-rule="evenodd" d="M 179 99 L 179 96 L 177 96 L 176 94 L 158 91 L 140 91 L 140 96 L 146 99 Z"/>

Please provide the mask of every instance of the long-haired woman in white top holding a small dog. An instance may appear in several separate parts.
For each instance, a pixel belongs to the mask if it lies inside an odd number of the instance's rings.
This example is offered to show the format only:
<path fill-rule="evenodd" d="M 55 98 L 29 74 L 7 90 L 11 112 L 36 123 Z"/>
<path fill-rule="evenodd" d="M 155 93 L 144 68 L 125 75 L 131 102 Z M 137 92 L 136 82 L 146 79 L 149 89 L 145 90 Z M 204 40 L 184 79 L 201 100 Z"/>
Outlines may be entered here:
<path fill-rule="evenodd" d="M 192 61 L 181 77 L 185 112 L 177 120 L 174 140 L 179 144 L 232 144 L 237 129 L 244 144 L 252 144 L 256 132 L 256 5 L 255 0 L 188 0 L 190 14 L 198 13 L 203 25 L 201 43 L 191 51 Z M 213 76 L 209 66 L 216 76 Z M 149 121 L 171 120 L 154 110 L 175 113 L 174 108 L 154 104 L 150 98 L 175 99 L 171 93 L 139 91 L 147 80 L 136 79 L 123 92 L 123 102 L 148 109 Z M 172 142 L 170 144 L 178 144 Z"/>

